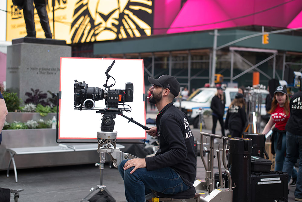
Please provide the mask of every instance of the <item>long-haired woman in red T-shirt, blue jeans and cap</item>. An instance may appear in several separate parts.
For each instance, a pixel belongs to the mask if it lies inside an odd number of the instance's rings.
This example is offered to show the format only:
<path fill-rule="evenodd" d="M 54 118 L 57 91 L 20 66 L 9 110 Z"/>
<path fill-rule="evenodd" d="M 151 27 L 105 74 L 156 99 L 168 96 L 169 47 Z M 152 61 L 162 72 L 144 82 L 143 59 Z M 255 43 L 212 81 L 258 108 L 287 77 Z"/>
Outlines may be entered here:
<path fill-rule="evenodd" d="M 285 125 L 290 116 L 289 114 L 289 97 L 283 86 L 278 86 L 274 92 L 271 110 L 268 112 L 271 117 L 265 125 L 262 134 L 267 134 L 275 124 L 271 137 L 271 153 L 275 156 L 275 171 L 282 171 L 286 153 L 286 131 Z M 297 178 L 297 171 L 293 169 L 293 178 Z"/>

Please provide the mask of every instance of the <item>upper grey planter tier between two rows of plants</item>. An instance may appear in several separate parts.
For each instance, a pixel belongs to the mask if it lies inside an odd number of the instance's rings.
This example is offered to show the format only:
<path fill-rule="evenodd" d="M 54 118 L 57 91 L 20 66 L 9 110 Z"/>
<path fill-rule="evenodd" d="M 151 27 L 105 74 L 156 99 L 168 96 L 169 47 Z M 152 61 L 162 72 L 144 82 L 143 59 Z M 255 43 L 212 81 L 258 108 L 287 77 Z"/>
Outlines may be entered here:
<path fill-rule="evenodd" d="M 49 120 L 53 119 L 53 116 L 56 116 L 56 113 L 49 113 L 47 116 L 40 116 L 40 113 L 37 112 L 8 112 L 6 116 L 6 122 L 12 123 L 14 121 L 27 122 L 28 120 L 37 121 L 39 119 Z"/>

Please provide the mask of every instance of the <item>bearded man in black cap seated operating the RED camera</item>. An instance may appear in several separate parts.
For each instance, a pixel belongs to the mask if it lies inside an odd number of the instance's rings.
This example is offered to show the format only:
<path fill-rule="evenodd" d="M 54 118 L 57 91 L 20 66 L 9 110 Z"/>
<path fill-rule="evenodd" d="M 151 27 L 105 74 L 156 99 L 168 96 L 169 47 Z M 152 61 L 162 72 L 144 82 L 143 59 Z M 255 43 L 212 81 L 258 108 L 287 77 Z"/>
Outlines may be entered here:
<path fill-rule="evenodd" d="M 127 201 L 143 202 L 151 190 L 163 194 L 186 191 L 196 177 L 194 137 L 188 117 L 172 103 L 180 85 L 170 75 L 148 80 L 153 84 L 149 102 L 156 104 L 159 114 L 156 127 L 146 132 L 158 136 L 159 150 L 153 157 L 124 160 L 119 165 Z"/>

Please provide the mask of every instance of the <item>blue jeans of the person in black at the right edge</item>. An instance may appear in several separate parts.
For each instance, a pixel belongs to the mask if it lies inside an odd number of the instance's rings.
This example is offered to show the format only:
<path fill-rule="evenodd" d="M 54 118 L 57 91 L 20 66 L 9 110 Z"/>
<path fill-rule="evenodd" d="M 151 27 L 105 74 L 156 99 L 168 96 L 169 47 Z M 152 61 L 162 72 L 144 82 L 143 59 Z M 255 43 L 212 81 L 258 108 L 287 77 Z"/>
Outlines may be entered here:
<path fill-rule="evenodd" d="M 283 172 L 288 173 L 288 182 L 291 179 L 291 171 L 297 159 L 300 158 L 299 172 L 297 177 L 297 187 L 295 198 L 302 198 L 302 136 L 286 132 L 286 157 L 283 165 Z"/>

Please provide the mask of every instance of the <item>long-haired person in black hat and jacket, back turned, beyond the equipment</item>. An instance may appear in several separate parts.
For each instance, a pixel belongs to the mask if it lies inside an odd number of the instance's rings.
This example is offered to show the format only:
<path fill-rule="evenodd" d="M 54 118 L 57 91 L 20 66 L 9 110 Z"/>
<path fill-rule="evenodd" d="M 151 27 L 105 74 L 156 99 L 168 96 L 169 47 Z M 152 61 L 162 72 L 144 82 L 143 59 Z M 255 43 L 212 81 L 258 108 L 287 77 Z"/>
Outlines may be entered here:
<path fill-rule="evenodd" d="M 246 124 L 245 102 L 243 94 L 237 93 L 226 114 L 225 129 L 229 129 L 232 138 L 241 137 Z"/>

